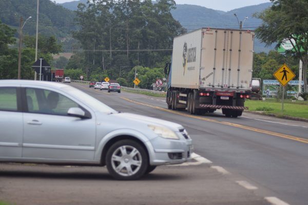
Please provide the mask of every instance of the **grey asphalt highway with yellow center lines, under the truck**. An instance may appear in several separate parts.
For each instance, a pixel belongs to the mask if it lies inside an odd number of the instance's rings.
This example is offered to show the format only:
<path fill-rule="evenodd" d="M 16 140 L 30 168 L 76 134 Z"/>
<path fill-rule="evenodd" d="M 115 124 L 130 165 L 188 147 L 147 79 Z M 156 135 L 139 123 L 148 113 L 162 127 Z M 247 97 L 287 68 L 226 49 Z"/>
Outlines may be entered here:
<path fill-rule="evenodd" d="M 256 193 L 308 203 L 308 122 L 252 114 L 226 118 L 219 112 L 195 116 L 167 110 L 164 98 L 73 86 L 115 110 L 178 122 L 194 140 L 197 154 L 256 186 Z"/>

